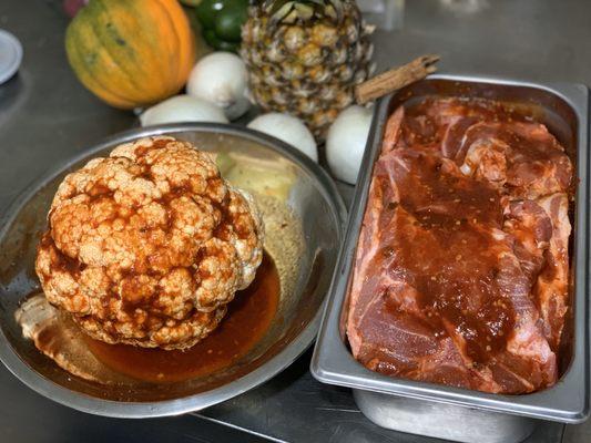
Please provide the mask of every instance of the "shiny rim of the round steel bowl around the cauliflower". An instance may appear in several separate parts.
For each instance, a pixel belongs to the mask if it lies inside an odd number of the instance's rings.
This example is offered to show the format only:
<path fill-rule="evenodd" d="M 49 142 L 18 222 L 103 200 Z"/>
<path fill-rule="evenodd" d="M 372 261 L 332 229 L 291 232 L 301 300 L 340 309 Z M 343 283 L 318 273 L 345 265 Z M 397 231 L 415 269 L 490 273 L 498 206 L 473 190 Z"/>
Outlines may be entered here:
<path fill-rule="evenodd" d="M 297 148 L 276 137 L 247 127 L 224 123 L 162 124 L 119 132 L 101 140 L 89 148 L 83 150 L 79 154 L 69 157 L 69 159 L 65 162 L 52 167 L 42 177 L 33 181 L 29 186 L 27 186 L 24 190 L 7 206 L 6 210 L 2 212 L 2 215 L 0 216 L 0 238 L 6 236 L 9 227 L 24 204 L 51 179 L 53 179 L 57 175 L 67 172 L 72 165 L 83 161 L 84 158 L 90 159 L 93 154 L 96 154 L 98 152 L 104 151 L 109 147 L 114 147 L 121 143 L 126 143 L 147 136 L 174 136 L 176 133 L 190 131 L 242 136 L 252 142 L 259 143 L 297 164 L 309 175 L 320 194 L 324 196 L 334 218 L 338 222 L 338 226 L 335 228 L 337 229 L 339 243 L 343 240 L 345 224 L 347 220 L 347 210 L 335 183 L 318 164 L 313 162 Z M 340 245 L 336 245 L 336 247 L 338 248 Z M 251 389 L 254 389 L 291 365 L 306 349 L 309 348 L 316 338 L 325 303 L 326 297 L 318 307 L 318 310 L 312 321 L 282 351 L 272 357 L 261 367 L 218 388 L 179 399 L 149 402 L 124 402 L 100 399 L 65 388 L 53 382 L 52 380 L 47 379 L 27 364 L 19 357 L 19 353 L 12 348 L 2 328 L 0 328 L 0 360 L 12 374 L 14 374 L 21 382 L 31 388 L 33 391 L 58 403 L 82 412 L 95 415 L 128 419 L 179 415 L 187 412 L 200 411 L 204 408 L 217 404 Z"/>

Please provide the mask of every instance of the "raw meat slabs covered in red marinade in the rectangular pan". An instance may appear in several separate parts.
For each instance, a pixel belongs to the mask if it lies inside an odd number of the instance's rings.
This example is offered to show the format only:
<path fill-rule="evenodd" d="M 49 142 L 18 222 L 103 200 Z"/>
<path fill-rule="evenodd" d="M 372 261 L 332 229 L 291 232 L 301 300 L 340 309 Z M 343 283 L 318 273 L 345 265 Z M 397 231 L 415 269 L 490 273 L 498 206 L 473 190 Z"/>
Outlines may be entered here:
<path fill-rule="evenodd" d="M 500 103 L 425 99 L 389 119 L 349 298 L 355 358 L 493 393 L 557 381 L 572 164 Z"/>

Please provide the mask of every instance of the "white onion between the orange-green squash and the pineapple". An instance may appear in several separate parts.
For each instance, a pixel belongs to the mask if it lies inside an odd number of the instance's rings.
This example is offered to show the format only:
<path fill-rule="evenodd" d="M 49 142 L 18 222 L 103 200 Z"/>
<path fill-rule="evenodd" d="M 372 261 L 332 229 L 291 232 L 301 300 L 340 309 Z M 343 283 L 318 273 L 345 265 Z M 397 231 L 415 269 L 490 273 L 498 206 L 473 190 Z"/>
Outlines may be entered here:
<path fill-rule="evenodd" d="M 232 52 L 205 55 L 191 71 L 186 93 L 216 104 L 235 120 L 251 107 L 246 64 Z"/>

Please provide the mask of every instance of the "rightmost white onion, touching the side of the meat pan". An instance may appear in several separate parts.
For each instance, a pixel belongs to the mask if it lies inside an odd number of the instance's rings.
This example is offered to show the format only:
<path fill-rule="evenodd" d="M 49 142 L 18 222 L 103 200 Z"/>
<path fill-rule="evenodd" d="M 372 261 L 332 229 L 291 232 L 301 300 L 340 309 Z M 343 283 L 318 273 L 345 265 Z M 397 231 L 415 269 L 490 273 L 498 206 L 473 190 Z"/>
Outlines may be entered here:
<path fill-rule="evenodd" d="M 367 107 L 351 105 L 340 112 L 328 130 L 326 161 L 333 174 L 343 182 L 357 182 L 371 114 Z"/>

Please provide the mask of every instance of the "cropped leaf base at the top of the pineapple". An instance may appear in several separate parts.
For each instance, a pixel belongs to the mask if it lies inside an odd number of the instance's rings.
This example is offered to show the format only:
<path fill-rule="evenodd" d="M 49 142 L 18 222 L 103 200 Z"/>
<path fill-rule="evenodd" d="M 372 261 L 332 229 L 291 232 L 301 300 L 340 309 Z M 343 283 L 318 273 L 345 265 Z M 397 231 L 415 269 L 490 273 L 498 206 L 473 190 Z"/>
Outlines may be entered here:
<path fill-rule="evenodd" d="M 269 25 L 279 23 L 294 24 L 310 19 L 328 19 L 333 22 L 343 21 L 343 3 L 350 0 L 262 0 L 259 7 L 269 19 Z"/>

